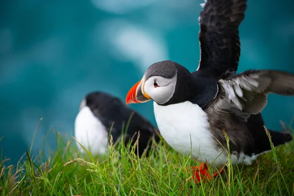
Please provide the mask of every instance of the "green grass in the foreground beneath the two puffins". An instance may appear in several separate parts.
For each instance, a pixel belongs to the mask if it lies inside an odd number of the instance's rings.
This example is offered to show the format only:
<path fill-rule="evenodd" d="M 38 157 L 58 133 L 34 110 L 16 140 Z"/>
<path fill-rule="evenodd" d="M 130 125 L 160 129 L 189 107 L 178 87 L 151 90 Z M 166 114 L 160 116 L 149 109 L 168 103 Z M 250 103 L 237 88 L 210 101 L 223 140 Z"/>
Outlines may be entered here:
<path fill-rule="evenodd" d="M 139 158 L 122 143 L 104 157 L 80 154 L 73 138 L 53 132 L 57 151 L 30 156 L 31 148 L 15 166 L 2 160 L 3 196 L 292 196 L 294 142 L 262 155 L 251 166 L 232 166 L 212 181 L 195 184 L 186 169 L 200 163 L 183 156 L 163 141 L 152 143 L 150 156 Z M 46 141 L 44 142 L 46 143 Z M 217 169 L 209 168 L 213 173 Z"/>

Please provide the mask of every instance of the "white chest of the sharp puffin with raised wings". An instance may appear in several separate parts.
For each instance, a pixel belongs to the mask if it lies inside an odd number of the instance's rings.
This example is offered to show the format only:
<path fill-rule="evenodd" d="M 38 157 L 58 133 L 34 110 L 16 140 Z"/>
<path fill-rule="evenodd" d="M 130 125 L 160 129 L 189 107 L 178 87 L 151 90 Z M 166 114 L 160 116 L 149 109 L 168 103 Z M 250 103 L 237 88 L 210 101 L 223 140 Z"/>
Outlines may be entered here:
<path fill-rule="evenodd" d="M 167 143 L 177 152 L 190 154 L 202 162 L 212 163 L 221 154 L 216 140 L 209 130 L 206 112 L 198 105 L 183 103 L 160 106 L 154 102 L 156 123 Z M 215 164 L 222 164 L 226 156 L 220 156 Z"/>

